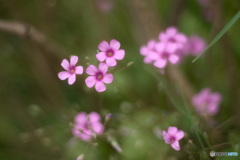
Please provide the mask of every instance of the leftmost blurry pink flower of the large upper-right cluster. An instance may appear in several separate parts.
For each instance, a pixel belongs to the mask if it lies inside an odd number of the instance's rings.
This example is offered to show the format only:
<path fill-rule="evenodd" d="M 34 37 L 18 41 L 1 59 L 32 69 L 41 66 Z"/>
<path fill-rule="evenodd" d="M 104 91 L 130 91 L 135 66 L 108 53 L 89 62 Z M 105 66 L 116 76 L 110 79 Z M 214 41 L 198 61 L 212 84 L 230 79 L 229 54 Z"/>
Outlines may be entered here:
<path fill-rule="evenodd" d="M 144 63 L 152 63 L 153 62 L 153 54 L 156 54 L 156 50 L 155 50 L 155 45 L 156 45 L 156 41 L 155 40 L 150 40 L 148 41 L 147 46 L 142 46 L 140 48 L 140 54 L 145 56 L 143 61 Z"/>

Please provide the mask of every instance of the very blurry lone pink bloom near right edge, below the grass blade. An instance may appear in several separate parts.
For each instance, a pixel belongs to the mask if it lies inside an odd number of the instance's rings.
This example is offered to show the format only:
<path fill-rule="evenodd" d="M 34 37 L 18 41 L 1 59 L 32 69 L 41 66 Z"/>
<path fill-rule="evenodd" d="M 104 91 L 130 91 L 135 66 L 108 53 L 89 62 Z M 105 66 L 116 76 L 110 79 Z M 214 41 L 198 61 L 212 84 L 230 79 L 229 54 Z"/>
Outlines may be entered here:
<path fill-rule="evenodd" d="M 209 88 L 205 88 L 193 96 L 192 103 L 200 115 L 208 114 L 214 116 L 219 110 L 221 99 L 222 97 L 219 93 L 211 93 Z"/>

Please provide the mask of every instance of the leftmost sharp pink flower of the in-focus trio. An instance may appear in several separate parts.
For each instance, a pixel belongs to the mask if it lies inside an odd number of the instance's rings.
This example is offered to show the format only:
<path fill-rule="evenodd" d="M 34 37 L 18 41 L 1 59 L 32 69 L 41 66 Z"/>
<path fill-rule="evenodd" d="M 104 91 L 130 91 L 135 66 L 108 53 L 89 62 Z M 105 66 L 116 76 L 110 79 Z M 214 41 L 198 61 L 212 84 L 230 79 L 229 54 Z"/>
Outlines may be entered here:
<path fill-rule="evenodd" d="M 61 66 L 66 70 L 58 73 L 58 77 L 61 80 L 65 80 L 68 78 L 68 84 L 72 85 L 76 81 L 76 74 L 82 74 L 83 73 L 83 67 L 75 65 L 78 62 L 77 56 L 72 56 L 69 62 L 64 59 L 61 63 Z"/>

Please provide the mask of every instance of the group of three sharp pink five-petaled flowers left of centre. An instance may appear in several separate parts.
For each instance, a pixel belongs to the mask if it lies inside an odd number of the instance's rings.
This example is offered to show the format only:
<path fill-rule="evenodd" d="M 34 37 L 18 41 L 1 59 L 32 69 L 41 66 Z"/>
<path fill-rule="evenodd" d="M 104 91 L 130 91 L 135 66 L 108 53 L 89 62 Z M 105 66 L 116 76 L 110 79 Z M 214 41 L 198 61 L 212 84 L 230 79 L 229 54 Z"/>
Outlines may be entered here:
<path fill-rule="evenodd" d="M 125 56 L 125 51 L 120 49 L 120 42 L 112 39 L 110 43 L 103 41 L 98 45 L 101 52 L 97 53 L 96 58 L 100 61 L 98 68 L 94 65 L 89 65 L 86 69 L 86 73 L 89 75 L 85 79 L 87 87 L 92 88 L 95 85 L 97 92 L 103 92 L 106 90 L 106 84 L 110 84 L 113 81 L 113 75 L 107 73 L 108 67 L 117 65 L 116 60 L 122 60 Z M 104 63 L 103 61 L 106 61 Z M 61 63 L 62 67 L 66 71 L 58 73 L 58 77 L 61 80 L 68 78 L 68 84 L 72 85 L 76 81 L 76 74 L 83 74 L 83 67 L 76 66 L 78 62 L 77 56 L 72 56 L 70 63 L 64 59 Z"/>

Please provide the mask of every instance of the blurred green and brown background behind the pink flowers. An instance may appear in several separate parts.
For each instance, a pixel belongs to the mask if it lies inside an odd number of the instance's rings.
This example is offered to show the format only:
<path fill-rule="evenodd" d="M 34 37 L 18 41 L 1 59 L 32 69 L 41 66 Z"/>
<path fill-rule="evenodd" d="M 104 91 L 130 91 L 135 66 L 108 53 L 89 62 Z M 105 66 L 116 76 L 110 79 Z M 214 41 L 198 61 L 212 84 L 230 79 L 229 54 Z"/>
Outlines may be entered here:
<path fill-rule="evenodd" d="M 87 146 L 71 133 L 74 116 L 81 111 L 97 111 L 103 121 L 112 113 L 106 132 L 123 150 L 115 151 L 103 136 L 85 159 L 204 159 L 192 124 L 175 108 L 183 106 L 178 79 L 166 76 L 170 85 L 163 83 L 164 76 L 143 63 L 139 49 L 172 25 L 209 42 L 239 9 L 239 0 L 209 0 L 205 7 L 196 0 L 0 0 L 0 159 L 76 159 Z M 206 12 L 211 12 L 210 19 Z M 3 23 L 17 26 L 12 22 L 25 26 L 22 34 L 1 28 Z M 43 41 L 28 35 L 33 28 Z M 238 21 L 202 58 L 192 63 L 194 57 L 186 57 L 177 69 L 194 93 L 209 87 L 223 96 L 211 120 L 199 117 L 188 102 L 202 139 L 216 151 L 240 154 L 239 28 Z M 87 63 L 96 65 L 98 44 L 113 38 L 126 53 L 117 69 L 133 65 L 114 73 L 106 92 L 87 88 L 85 76 L 78 76 L 72 86 L 58 79 L 62 59 L 77 55 L 84 69 Z M 159 134 L 168 126 L 187 133 L 179 152 Z M 209 146 L 203 143 L 208 154 Z"/>

